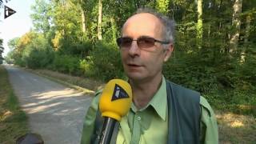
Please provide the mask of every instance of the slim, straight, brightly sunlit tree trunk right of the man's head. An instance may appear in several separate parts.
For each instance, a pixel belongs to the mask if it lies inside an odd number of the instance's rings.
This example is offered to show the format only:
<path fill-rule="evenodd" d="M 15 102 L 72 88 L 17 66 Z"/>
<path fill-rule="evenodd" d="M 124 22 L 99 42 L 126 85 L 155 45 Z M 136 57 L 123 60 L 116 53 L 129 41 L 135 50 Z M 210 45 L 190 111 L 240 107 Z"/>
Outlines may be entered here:
<path fill-rule="evenodd" d="M 202 0 L 198 0 L 197 45 L 202 49 Z"/>

